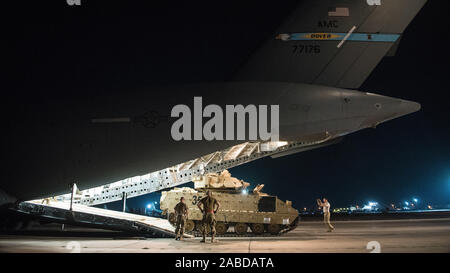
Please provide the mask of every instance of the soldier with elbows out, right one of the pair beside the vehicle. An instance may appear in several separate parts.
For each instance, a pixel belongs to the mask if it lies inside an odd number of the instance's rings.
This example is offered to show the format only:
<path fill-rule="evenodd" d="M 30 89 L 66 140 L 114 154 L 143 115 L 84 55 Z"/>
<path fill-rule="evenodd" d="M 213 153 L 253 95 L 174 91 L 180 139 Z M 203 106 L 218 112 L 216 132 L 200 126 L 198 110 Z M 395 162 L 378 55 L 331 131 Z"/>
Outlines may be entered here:
<path fill-rule="evenodd" d="M 211 229 L 211 243 L 217 242 L 215 239 L 216 237 L 216 217 L 214 214 L 219 210 L 220 203 L 217 201 L 216 198 L 212 197 L 212 193 L 210 191 L 206 192 L 206 197 L 202 198 L 198 203 L 197 206 L 200 209 L 200 211 L 203 213 L 203 240 L 201 240 L 201 243 L 206 242 L 206 230 L 209 226 Z M 203 206 L 203 208 L 202 208 Z M 217 208 L 216 208 L 217 206 Z"/>

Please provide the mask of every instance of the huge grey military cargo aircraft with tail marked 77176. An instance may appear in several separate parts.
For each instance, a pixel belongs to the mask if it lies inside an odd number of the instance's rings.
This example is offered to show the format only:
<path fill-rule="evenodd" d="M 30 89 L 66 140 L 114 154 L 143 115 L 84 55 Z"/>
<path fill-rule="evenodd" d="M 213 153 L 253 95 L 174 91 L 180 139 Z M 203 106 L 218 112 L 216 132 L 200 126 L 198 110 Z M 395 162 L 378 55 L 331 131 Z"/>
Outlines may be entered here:
<path fill-rule="evenodd" d="M 220 165 L 215 153 L 238 150 L 233 147 L 242 152 L 247 143 L 245 149 L 253 149 L 247 161 L 254 151 L 259 152 L 255 158 L 284 156 L 418 111 L 416 102 L 357 89 L 385 56 L 395 54 L 402 33 L 425 3 L 301 1 L 228 81 L 155 84 L 107 98 L 63 99 L 20 109 L 26 114 L 8 127 L 4 157 L 21 171 L 5 165 L 1 204 L 64 194 L 74 182 L 83 190 L 101 187 L 186 162 L 203 162 L 204 168 L 215 160 Z M 211 105 L 223 112 L 208 112 Z M 235 124 L 225 126 L 227 106 L 239 105 L 244 115 L 235 119 L 232 113 Z M 252 105 L 256 108 L 246 108 Z M 173 112 L 176 106 L 191 111 L 183 112 L 190 116 L 174 128 L 181 119 L 181 112 Z M 278 112 L 260 123 L 261 113 L 269 109 Z M 279 126 L 270 127 L 269 119 Z M 251 130 L 261 132 L 261 126 L 266 133 L 270 127 L 277 138 L 255 138 Z M 187 137 L 174 138 L 174 130 Z M 241 155 L 235 153 L 233 164 Z M 171 175 L 183 176 L 180 168 Z"/>

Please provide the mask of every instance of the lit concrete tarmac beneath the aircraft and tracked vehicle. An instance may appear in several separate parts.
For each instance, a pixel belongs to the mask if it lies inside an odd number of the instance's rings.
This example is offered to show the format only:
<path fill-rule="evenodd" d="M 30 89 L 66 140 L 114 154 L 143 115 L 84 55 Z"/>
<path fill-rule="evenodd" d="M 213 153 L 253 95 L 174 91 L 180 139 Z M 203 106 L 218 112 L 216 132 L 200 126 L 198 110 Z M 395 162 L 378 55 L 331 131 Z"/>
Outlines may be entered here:
<path fill-rule="evenodd" d="M 174 239 L 120 237 L 117 233 L 67 231 L 49 236 L 0 235 L 0 253 L 448 253 L 450 218 L 363 220 L 334 222 L 334 232 L 323 223 L 300 222 L 277 237 L 222 237 L 218 243 L 200 238 Z M 61 235 L 63 234 L 63 235 Z M 92 236 L 92 237 L 91 237 Z"/>

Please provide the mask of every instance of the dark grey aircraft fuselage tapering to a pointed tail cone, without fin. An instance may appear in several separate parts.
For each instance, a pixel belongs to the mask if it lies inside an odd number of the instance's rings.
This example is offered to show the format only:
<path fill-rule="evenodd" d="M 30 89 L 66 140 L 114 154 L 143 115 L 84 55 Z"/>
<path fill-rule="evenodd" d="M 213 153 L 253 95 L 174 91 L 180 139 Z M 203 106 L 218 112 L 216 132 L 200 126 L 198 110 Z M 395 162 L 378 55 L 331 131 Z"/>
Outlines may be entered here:
<path fill-rule="evenodd" d="M 194 109 L 194 97 L 222 109 L 277 105 L 280 141 L 333 139 L 420 109 L 417 103 L 375 94 L 276 82 L 160 86 L 54 100 L 40 105 L 40 112 L 32 107 L 28 120 L 13 124 L 11 132 L 21 137 L 10 139 L 10 164 L 22 171 L 8 172 L 0 188 L 22 200 L 62 194 L 72 182 L 81 189 L 95 187 L 248 140 L 248 134 L 246 139 L 194 140 L 195 128 L 191 140 L 175 140 L 171 130 L 177 118 L 171 111 L 180 104 Z M 203 116 L 203 124 L 211 118 Z M 244 124 L 246 132 L 254 125 Z M 226 135 L 226 126 L 223 130 Z"/>

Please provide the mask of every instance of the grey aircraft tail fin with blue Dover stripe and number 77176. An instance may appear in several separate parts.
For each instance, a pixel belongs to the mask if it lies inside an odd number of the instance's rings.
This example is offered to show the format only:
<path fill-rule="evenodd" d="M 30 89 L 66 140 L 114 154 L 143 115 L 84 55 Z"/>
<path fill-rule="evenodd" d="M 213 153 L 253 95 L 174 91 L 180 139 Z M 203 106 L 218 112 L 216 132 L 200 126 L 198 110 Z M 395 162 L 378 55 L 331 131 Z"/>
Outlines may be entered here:
<path fill-rule="evenodd" d="M 427 0 L 306 0 L 234 80 L 359 88 Z"/>

